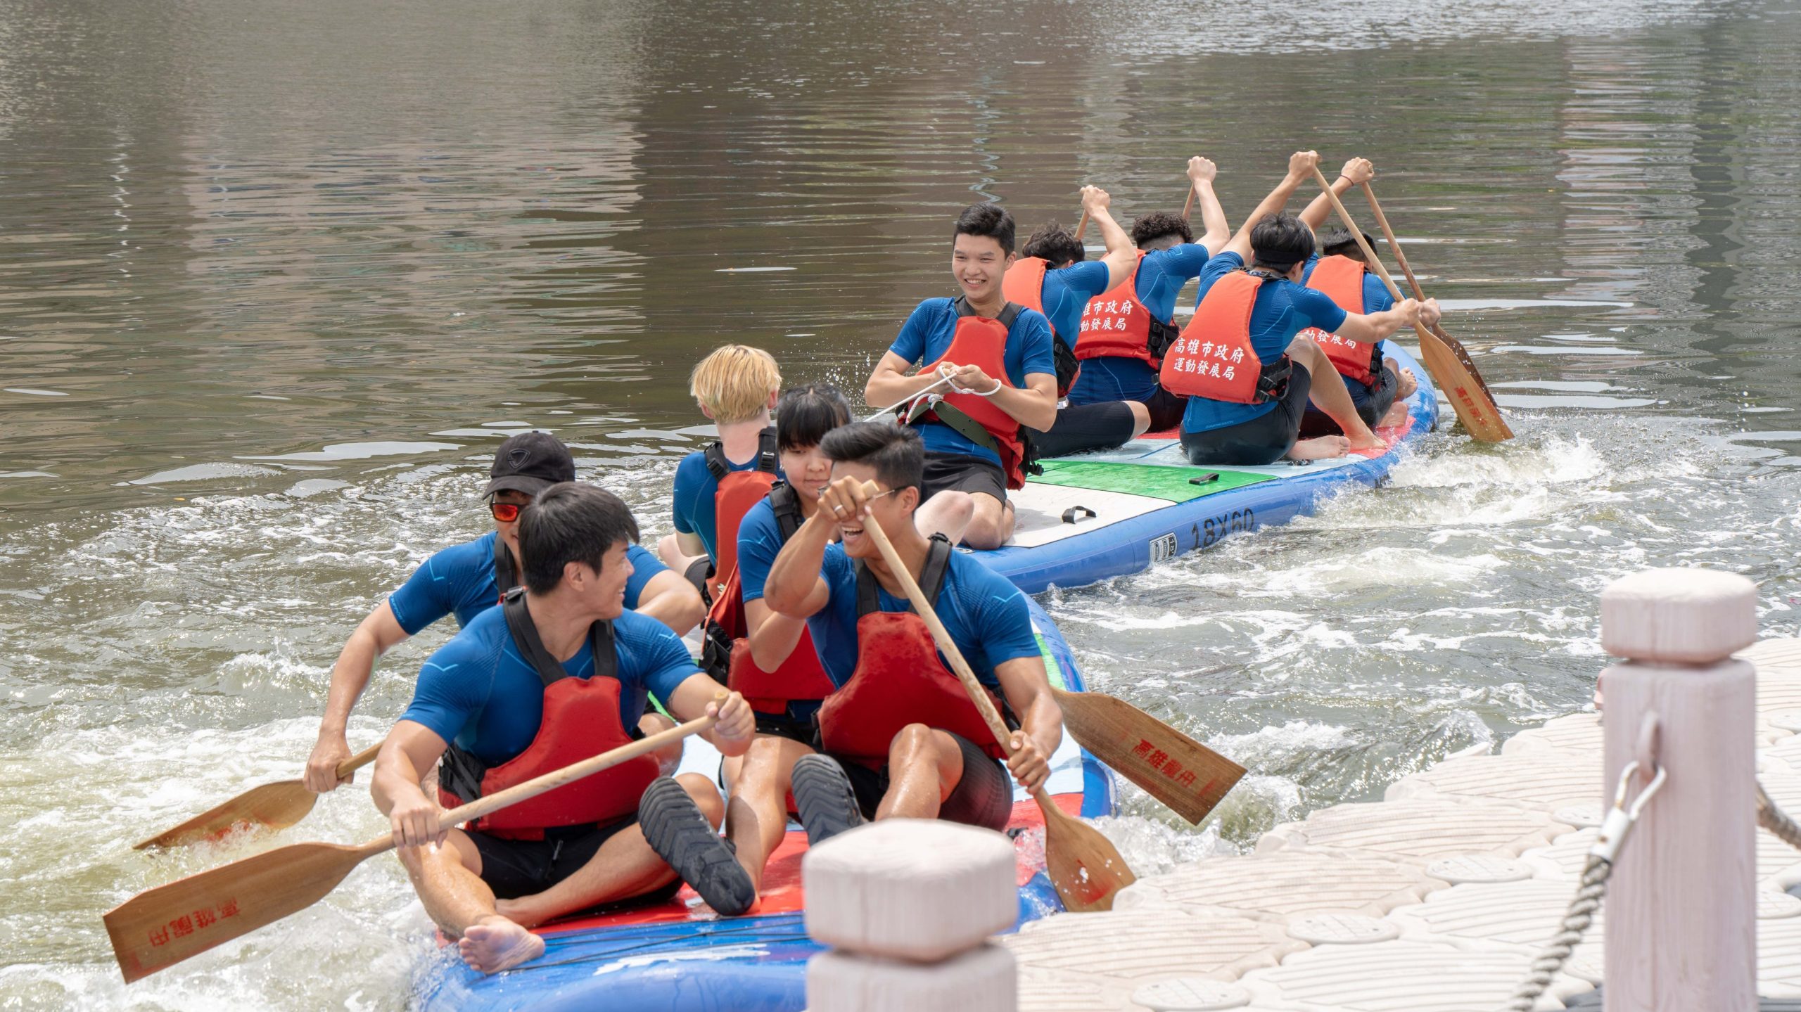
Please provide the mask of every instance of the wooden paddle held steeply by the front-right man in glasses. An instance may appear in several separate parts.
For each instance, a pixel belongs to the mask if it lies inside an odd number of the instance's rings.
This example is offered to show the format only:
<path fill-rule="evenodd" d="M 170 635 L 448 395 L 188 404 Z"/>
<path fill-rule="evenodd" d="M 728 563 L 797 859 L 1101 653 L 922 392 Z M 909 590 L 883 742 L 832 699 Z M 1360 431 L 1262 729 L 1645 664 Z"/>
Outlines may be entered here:
<path fill-rule="evenodd" d="M 868 483 L 863 488 L 870 495 L 881 492 L 875 488 L 875 483 Z M 900 562 L 895 546 L 888 542 L 888 533 L 875 522 L 875 517 L 870 517 L 863 529 L 875 540 L 875 547 L 888 562 L 888 569 L 900 580 L 908 600 L 913 601 L 913 610 L 919 618 L 926 619 L 926 628 L 938 641 L 938 650 L 951 661 L 951 670 L 964 682 L 969 700 L 982 711 L 982 718 L 987 720 L 994 740 L 1003 749 L 1012 751 L 1012 733 L 1007 731 L 1007 724 L 996 713 L 989 693 L 976 681 L 976 673 L 969 670 L 969 661 L 964 661 L 964 652 L 956 648 L 951 632 L 938 621 L 938 612 L 926 600 L 926 592 L 919 589 L 919 582 L 913 580 L 906 564 Z M 1100 836 L 1100 830 L 1075 816 L 1064 814 L 1043 787 L 1032 792 L 1032 800 L 1037 801 L 1037 809 L 1045 814 L 1045 868 L 1050 872 L 1050 884 L 1063 897 L 1063 906 L 1072 913 L 1113 909 L 1113 895 L 1138 881 L 1131 868 L 1126 866 L 1126 859 L 1120 857 L 1120 852 L 1113 848 L 1108 837 Z"/>

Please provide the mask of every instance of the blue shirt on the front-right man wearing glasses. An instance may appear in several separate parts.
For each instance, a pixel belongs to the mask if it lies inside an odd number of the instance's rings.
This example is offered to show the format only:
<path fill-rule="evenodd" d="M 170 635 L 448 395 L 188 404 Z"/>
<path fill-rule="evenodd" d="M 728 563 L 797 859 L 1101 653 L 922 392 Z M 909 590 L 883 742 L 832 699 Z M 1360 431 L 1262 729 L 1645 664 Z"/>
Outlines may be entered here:
<path fill-rule="evenodd" d="M 845 684 L 857 670 L 857 567 L 845 555 L 845 546 L 825 546 L 825 564 L 819 567 L 832 598 L 818 614 L 807 619 L 812 643 L 832 684 Z M 906 598 L 890 598 L 877 587 L 875 600 L 884 612 L 910 612 Z M 951 553 L 944 573 L 944 589 L 933 601 L 951 641 L 964 652 L 969 670 L 985 686 L 1000 691 L 994 666 L 1018 657 L 1039 657 L 1037 634 L 1032 632 L 1032 614 L 1025 594 L 1010 580 L 960 551 Z M 940 654 L 940 659 L 944 655 Z M 946 663 L 949 668 L 949 663 Z"/>

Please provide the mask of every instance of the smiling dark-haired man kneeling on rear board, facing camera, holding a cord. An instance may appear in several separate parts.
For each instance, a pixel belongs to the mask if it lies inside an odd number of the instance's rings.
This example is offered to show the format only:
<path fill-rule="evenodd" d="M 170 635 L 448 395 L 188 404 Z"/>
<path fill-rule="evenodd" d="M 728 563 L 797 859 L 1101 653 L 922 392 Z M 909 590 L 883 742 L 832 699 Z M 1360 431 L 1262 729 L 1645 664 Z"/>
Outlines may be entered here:
<path fill-rule="evenodd" d="M 965 207 L 951 230 L 951 274 L 964 294 L 920 303 L 863 387 L 868 403 L 897 403 L 942 389 L 938 369 L 955 366 L 942 400 L 904 411 L 926 441 L 920 522 L 969 547 L 1012 537 L 1007 490 L 1025 488 L 1028 463 L 1021 429 L 1057 420 L 1050 322 L 1007 301 L 1012 261 L 1012 214 L 998 203 Z"/>

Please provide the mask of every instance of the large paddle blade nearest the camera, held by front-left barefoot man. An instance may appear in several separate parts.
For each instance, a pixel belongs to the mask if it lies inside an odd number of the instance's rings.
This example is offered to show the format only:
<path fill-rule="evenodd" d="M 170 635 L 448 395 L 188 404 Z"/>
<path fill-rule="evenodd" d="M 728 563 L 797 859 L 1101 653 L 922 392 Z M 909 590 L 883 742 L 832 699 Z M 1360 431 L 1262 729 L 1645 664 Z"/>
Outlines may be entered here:
<path fill-rule="evenodd" d="M 124 981 L 306 909 L 382 850 L 387 837 L 362 846 L 297 843 L 131 897 L 104 917 Z"/>

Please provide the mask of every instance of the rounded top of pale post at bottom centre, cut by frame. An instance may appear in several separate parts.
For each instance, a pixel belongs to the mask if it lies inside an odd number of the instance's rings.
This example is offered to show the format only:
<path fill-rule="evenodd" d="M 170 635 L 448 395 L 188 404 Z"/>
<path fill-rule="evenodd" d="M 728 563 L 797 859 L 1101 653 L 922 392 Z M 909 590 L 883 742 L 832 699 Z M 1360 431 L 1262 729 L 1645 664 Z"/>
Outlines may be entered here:
<path fill-rule="evenodd" d="M 801 861 L 812 1012 L 1016 1012 L 1019 969 L 989 936 L 1019 917 L 1014 845 L 938 819 L 886 819 Z"/>

